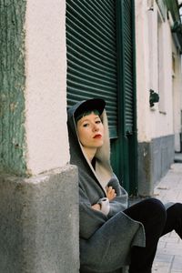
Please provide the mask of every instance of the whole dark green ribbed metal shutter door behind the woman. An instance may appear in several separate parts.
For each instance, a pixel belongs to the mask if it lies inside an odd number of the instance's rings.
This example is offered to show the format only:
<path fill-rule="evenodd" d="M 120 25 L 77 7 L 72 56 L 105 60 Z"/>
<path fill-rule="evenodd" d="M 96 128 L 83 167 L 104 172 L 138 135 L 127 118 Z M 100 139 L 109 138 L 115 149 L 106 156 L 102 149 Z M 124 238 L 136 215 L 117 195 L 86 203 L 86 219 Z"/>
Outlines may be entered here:
<path fill-rule="evenodd" d="M 135 86 L 133 1 L 66 0 L 67 104 L 106 100 L 111 161 L 133 190 Z"/>

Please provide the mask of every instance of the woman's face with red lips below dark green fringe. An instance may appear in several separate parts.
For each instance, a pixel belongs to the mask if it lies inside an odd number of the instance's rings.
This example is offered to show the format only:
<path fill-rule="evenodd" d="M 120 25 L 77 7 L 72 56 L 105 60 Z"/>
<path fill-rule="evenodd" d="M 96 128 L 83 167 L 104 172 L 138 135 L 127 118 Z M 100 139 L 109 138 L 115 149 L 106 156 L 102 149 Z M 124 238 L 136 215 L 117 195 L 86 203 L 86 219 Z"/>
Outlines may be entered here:
<path fill-rule="evenodd" d="M 94 112 L 77 121 L 77 134 L 83 147 L 97 148 L 104 143 L 104 126 Z"/>

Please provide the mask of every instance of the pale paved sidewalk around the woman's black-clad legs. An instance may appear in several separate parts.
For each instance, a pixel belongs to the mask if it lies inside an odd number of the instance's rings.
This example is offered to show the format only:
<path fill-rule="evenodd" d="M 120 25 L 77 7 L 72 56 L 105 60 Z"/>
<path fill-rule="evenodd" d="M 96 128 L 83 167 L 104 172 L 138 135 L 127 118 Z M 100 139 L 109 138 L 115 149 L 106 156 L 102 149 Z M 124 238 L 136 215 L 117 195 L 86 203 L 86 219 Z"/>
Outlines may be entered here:
<path fill-rule="evenodd" d="M 182 155 L 178 154 L 167 175 L 155 188 L 155 197 L 162 202 L 182 202 Z M 179 163 L 181 162 L 181 163 Z M 182 273 L 182 240 L 175 231 L 160 238 L 153 273 Z"/>

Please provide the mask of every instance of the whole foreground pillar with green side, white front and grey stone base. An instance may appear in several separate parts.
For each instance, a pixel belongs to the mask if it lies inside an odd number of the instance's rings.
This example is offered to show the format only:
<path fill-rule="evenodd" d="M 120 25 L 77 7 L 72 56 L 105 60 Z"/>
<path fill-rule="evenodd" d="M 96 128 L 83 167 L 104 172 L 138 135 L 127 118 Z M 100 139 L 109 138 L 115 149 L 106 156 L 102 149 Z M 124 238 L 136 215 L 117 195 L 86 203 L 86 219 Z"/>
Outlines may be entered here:
<path fill-rule="evenodd" d="M 0 16 L 0 272 L 79 272 L 66 2 L 3 1 Z"/>

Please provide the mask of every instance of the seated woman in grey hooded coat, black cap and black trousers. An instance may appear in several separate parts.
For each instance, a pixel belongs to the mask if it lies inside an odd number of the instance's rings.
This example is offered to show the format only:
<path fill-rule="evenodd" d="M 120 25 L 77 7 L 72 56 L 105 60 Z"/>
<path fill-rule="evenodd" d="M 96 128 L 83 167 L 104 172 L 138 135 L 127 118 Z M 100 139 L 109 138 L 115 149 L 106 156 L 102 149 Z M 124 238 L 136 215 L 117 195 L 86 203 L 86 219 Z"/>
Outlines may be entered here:
<path fill-rule="evenodd" d="M 105 101 L 68 110 L 71 164 L 78 167 L 80 272 L 151 273 L 158 239 L 175 229 L 182 238 L 182 205 L 155 198 L 127 206 L 126 190 L 110 166 Z"/>

